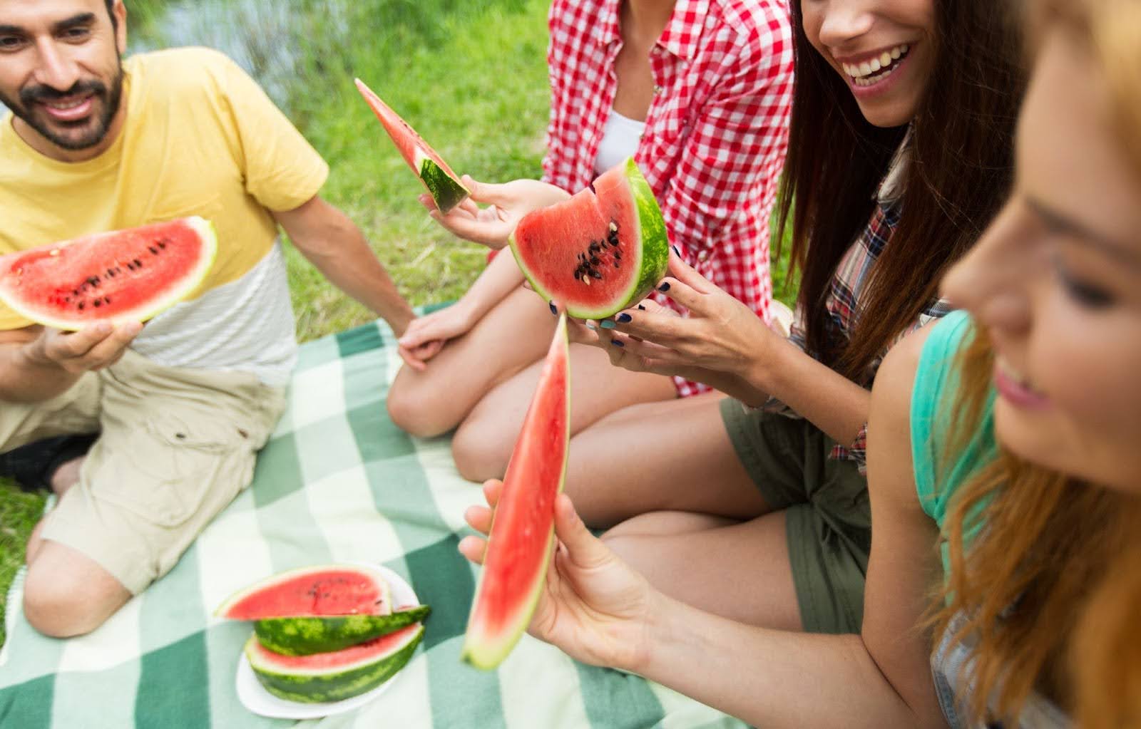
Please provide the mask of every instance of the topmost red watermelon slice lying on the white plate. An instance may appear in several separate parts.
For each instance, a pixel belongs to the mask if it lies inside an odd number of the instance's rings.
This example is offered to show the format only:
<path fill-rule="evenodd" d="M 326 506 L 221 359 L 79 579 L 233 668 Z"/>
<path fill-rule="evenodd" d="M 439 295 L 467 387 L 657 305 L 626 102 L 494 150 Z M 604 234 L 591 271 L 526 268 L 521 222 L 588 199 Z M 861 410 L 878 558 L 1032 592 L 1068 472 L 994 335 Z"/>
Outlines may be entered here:
<path fill-rule="evenodd" d="M 215 615 L 259 621 L 391 611 L 391 588 L 377 570 L 358 565 L 317 565 L 283 572 L 240 590 Z"/>

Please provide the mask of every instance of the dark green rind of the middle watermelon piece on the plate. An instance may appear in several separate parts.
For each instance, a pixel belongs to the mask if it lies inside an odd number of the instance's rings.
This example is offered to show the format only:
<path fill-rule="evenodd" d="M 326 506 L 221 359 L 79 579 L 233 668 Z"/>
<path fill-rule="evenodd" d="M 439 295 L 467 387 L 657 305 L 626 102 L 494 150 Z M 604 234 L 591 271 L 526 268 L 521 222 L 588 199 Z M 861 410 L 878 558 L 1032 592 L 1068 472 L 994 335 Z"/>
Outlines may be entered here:
<path fill-rule="evenodd" d="M 423 621 L 427 605 L 388 615 L 337 615 L 329 617 L 269 617 L 253 622 L 253 634 L 264 647 L 283 656 L 331 653 L 394 633 Z"/>

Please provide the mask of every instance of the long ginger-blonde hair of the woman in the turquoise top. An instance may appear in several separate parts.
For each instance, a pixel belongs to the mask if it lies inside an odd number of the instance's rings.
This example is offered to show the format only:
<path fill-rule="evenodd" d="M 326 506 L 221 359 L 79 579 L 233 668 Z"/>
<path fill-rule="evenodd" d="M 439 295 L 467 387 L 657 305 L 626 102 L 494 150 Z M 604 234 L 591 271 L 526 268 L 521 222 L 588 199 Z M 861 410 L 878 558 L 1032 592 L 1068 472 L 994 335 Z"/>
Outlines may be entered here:
<path fill-rule="evenodd" d="M 1141 179 L 1141 0 L 1037 0 L 1036 37 L 1063 29 L 1104 74 L 1110 118 Z M 978 430 L 994 356 L 985 332 L 961 358 L 945 465 Z M 1139 444 L 1141 445 L 1141 444 Z M 964 538 L 980 529 L 973 541 Z M 972 704 L 1013 722 L 1033 690 L 1083 729 L 1141 727 L 1141 494 L 1077 481 L 1000 452 L 956 492 L 950 570 L 933 602 L 976 643 Z"/>

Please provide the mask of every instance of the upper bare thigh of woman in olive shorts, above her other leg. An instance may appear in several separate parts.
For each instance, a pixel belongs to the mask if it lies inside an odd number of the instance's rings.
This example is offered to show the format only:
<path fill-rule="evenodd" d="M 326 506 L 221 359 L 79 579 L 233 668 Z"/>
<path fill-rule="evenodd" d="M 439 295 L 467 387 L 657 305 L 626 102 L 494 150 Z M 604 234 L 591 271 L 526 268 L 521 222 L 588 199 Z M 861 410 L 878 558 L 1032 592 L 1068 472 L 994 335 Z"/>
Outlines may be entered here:
<path fill-rule="evenodd" d="M 737 457 L 710 392 L 617 411 L 570 442 L 566 492 L 583 520 L 610 527 L 649 511 L 734 520 L 771 509 Z"/>

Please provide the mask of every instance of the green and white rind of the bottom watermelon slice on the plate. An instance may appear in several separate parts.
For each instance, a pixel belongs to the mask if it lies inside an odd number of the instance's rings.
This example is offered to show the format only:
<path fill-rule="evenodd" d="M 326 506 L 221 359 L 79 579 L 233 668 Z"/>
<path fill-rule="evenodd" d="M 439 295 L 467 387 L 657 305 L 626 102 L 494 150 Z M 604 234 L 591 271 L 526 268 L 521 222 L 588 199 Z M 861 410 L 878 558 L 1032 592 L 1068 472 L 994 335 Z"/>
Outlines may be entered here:
<path fill-rule="evenodd" d="M 423 626 L 396 649 L 358 666 L 331 670 L 326 673 L 290 673 L 264 663 L 256 646 L 257 635 L 245 643 L 245 657 L 261 686 L 278 698 L 302 704 L 324 704 L 367 694 L 399 673 L 423 640 Z"/>

